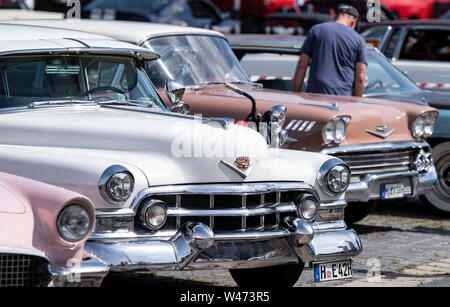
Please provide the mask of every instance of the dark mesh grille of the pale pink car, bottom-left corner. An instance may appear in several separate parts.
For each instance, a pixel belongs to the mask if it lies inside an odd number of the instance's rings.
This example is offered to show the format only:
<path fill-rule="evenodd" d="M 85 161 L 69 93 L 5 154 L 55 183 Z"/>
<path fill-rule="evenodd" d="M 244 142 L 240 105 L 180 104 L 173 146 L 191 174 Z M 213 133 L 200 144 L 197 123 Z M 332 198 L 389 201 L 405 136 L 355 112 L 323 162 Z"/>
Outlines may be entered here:
<path fill-rule="evenodd" d="M 0 287 L 39 286 L 47 277 L 47 264 L 37 256 L 0 253 Z"/>

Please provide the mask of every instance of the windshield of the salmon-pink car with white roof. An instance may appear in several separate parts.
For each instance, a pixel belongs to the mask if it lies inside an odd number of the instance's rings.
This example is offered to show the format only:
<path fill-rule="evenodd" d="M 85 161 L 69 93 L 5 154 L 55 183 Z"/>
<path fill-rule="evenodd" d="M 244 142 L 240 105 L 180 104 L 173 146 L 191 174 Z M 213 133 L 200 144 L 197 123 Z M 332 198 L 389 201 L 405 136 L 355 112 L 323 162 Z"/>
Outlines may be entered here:
<path fill-rule="evenodd" d="M 149 62 L 147 73 L 157 88 L 175 79 L 185 86 L 214 82 L 250 82 L 227 41 L 220 37 L 178 35 L 154 38 L 146 47 L 161 59 Z"/>

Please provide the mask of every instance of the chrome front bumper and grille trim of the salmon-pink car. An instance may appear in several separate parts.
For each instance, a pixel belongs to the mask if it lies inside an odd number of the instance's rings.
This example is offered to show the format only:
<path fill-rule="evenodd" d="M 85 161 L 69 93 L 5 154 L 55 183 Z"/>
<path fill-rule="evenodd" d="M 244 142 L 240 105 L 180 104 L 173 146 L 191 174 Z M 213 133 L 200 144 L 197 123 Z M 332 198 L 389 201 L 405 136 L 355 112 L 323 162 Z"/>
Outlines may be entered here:
<path fill-rule="evenodd" d="M 430 145 L 426 142 L 408 142 L 408 143 L 379 143 L 368 145 L 349 145 L 328 148 L 321 153 L 340 157 L 348 154 L 370 154 L 377 152 L 379 154 L 392 154 L 392 151 L 400 150 L 426 150 L 431 152 Z M 376 154 L 374 154 L 376 155 Z M 406 157 L 405 157 L 406 158 Z M 392 158 L 391 158 L 392 159 Z M 345 159 L 344 159 L 345 161 Z M 369 163 L 369 162 L 368 162 Z M 352 169 L 352 166 L 350 169 Z M 353 171 L 352 171 L 353 175 Z M 419 172 L 411 167 L 406 167 L 401 171 L 374 172 L 367 171 L 366 174 L 359 176 L 357 181 L 352 181 L 345 193 L 347 202 L 368 202 L 381 198 L 381 184 L 404 183 L 405 197 L 414 197 L 426 194 L 433 188 L 437 180 L 436 170 L 432 165 L 428 170 Z"/>

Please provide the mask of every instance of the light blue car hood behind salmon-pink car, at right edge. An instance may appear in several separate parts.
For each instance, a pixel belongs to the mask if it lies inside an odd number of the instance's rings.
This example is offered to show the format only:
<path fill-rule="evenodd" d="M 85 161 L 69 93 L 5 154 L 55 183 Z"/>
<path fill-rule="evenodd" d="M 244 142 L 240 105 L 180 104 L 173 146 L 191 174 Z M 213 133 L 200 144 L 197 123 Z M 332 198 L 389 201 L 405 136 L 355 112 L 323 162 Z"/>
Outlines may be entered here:
<path fill-rule="evenodd" d="M 424 90 L 415 92 L 401 92 L 395 94 L 387 93 L 381 95 L 373 95 L 372 97 L 406 101 L 422 105 L 424 105 L 425 102 L 437 109 L 450 110 L 450 95 L 439 94 L 432 91 Z"/>

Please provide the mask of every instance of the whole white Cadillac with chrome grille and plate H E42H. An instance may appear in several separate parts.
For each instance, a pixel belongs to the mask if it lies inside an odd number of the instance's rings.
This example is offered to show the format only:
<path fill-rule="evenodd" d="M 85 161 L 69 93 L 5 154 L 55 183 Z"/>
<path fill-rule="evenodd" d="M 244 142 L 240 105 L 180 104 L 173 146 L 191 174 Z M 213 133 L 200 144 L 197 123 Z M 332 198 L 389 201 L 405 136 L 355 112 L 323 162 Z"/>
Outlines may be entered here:
<path fill-rule="evenodd" d="M 148 49 L 0 31 L 0 171 L 89 197 L 97 222 L 85 249 L 110 271 L 225 268 L 239 285 L 290 286 L 311 263 L 316 280 L 352 276 L 362 245 L 343 221 L 344 162 L 169 112 L 183 109 L 183 89 L 168 82 L 166 107 L 144 72 L 158 58 Z"/>

